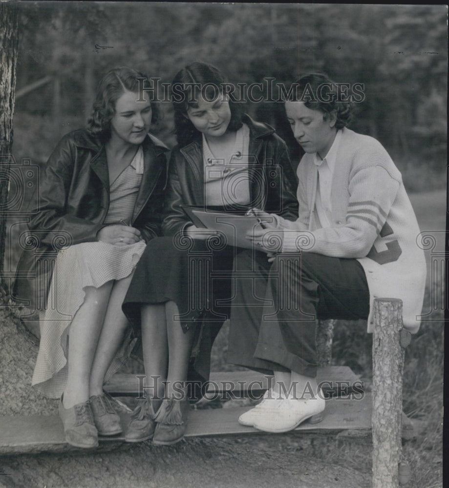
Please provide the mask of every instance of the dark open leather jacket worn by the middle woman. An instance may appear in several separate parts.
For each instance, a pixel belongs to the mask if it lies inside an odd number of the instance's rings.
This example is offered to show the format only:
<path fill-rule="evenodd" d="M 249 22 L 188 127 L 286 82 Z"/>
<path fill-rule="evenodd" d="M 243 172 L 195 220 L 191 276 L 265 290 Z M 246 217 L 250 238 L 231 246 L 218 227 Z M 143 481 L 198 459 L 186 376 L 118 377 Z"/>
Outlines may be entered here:
<path fill-rule="evenodd" d="M 250 129 L 249 181 L 251 206 L 288 220 L 298 218 L 297 179 L 285 142 L 266 123 L 243 116 Z M 171 152 L 164 235 L 172 236 L 192 222 L 180 205 L 204 205 L 204 166 L 201 142 Z"/>

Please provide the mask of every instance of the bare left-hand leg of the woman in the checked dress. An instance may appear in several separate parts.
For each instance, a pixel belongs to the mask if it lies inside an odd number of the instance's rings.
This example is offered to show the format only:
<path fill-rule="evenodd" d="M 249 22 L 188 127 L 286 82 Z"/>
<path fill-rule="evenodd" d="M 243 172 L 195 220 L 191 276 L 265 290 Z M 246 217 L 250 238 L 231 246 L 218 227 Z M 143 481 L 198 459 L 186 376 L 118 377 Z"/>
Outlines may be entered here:
<path fill-rule="evenodd" d="M 89 380 L 98 338 L 103 326 L 113 281 L 99 288 L 87 286 L 83 305 L 70 324 L 68 374 L 64 389 L 64 407 L 71 408 L 89 399 Z"/>

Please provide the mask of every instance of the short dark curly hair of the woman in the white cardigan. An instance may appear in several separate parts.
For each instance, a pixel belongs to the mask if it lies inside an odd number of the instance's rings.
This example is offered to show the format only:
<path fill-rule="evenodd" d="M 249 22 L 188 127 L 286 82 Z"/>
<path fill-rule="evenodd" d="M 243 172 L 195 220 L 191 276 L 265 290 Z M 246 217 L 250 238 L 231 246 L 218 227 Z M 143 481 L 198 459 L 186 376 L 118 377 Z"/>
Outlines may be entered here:
<path fill-rule="evenodd" d="M 329 114 L 335 111 L 337 116 L 335 127 L 342 129 L 348 125 L 353 106 L 351 102 L 342 99 L 342 92 L 337 89 L 335 81 L 324 73 L 309 73 L 301 76 L 297 84 L 299 85 L 298 100 L 304 102 L 307 108 L 320 110 L 324 114 L 324 120 L 327 120 Z M 323 85 L 326 90 L 319 88 Z M 324 98 L 326 100 L 323 100 Z"/>

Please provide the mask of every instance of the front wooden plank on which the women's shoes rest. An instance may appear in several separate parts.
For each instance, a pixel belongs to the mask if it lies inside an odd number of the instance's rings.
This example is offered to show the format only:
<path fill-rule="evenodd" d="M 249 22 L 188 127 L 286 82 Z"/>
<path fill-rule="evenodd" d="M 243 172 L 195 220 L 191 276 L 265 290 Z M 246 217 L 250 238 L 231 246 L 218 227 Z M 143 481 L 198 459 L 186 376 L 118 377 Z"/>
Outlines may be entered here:
<path fill-rule="evenodd" d="M 360 395 L 359 395 L 360 397 Z M 368 434 L 371 429 L 372 398 L 370 393 L 363 398 L 333 398 L 326 400 L 324 419 L 319 424 L 305 422 L 296 430 L 303 433 L 338 433 L 344 429 Z M 191 410 L 186 437 L 260 434 L 253 427 L 238 424 L 237 419 L 251 407 L 214 408 Z M 128 414 L 121 414 L 125 427 Z M 124 434 L 101 437 L 100 447 L 125 442 Z M 112 446 L 111 446 L 112 447 Z M 64 430 L 58 416 L 3 416 L 0 417 L 0 454 L 37 452 L 62 452 L 84 450 L 69 446 L 64 440 Z"/>

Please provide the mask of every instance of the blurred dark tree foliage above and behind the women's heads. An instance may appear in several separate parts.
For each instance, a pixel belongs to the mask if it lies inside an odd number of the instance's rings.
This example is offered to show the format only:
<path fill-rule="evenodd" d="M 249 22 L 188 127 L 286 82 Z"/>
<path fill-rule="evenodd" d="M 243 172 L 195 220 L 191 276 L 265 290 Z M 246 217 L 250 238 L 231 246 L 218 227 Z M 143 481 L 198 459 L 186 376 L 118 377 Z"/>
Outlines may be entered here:
<path fill-rule="evenodd" d="M 72 116 L 83 124 L 96 81 L 131 65 L 170 83 L 194 60 L 233 82 L 291 83 L 310 70 L 364 83 L 353 127 L 378 138 L 401 170 L 446 161 L 446 8 L 442 5 L 164 4 L 21 2 L 18 88 L 46 75 L 61 81 L 22 97 L 17 110 L 51 114 L 54 142 Z M 247 104 L 274 124 L 298 160 L 281 103 Z M 171 129 L 171 105 L 160 129 Z M 64 122 L 64 121 L 63 121 Z M 174 139 L 169 138 L 169 143 Z M 416 161 L 412 161 L 415 156 Z"/>

